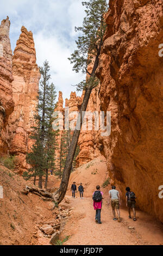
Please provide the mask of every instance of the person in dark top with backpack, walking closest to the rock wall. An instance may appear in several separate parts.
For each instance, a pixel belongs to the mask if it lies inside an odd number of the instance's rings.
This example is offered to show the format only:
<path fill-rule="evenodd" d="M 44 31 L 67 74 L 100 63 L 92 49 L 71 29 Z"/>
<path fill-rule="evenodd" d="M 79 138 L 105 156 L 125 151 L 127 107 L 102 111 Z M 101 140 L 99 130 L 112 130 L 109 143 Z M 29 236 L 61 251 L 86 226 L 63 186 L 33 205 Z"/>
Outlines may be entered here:
<path fill-rule="evenodd" d="M 135 211 L 135 193 L 130 191 L 130 188 L 126 188 L 126 206 L 128 208 L 129 218 L 131 218 L 130 209 L 133 209 L 134 218 L 133 221 L 136 221 L 136 211 Z"/>

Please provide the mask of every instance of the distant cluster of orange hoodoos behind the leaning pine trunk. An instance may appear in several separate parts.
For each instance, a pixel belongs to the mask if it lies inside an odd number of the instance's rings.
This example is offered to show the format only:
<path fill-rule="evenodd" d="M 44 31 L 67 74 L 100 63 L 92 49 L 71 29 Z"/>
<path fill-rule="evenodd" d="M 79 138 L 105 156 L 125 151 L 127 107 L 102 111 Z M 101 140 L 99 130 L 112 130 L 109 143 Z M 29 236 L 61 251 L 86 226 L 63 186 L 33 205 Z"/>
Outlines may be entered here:
<path fill-rule="evenodd" d="M 99 98 L 98 98 L 98 89 L 93 89 L 91 96 L 90 96 L 90 100 L 87 106 L 86 111 L 90 111 L 90 113 L 93 114 L 94 111 L 98 111 L 99 112 Z M 84 97 L 84 92 L 82 94 L 82 96 L 77 96 L 76 92 L 71 92 L 70 95 L 70 99 L 65 99 L 65 107 L 68 107 L 69 110 L 69 121 L 70 121 L 70 127 L 73 127 L 73 125 L 76 125 L 76 122 L 74 122 L 74 118 L 76 118 L 76 113 L 75 112 L 79 112 L 80 111 L 80 106 L 82 105 L 82 101 L 83 101 L 83 97 Z M 59 92 L 59 97 L 58 97 L 58 102 L 57 102 L 57 107 L 55 108 L 55 111 L 60 111 L 63 114 L 64 117 L 64 124 L 65 124 L 65 108 L 63 107 L 63 99 L 62 99 L 62 93 Z M 74 113 L 72 113 L 74 112 Z M 90 115 L 91 117 L 91 115 Z M 88 119 L 86 120 L 86 123 L 88 123 Z M 71 123 L 72 121 L 72 123 Z M 89 121 L 91 121 L 91 118 L 89 119 Z M 79 155 L 76 158 L 76 167 L 81 166 L 84 163 L 87 163 L 93 159 L 95 159 L 95 157 L 101 155 L 99 149 L 96 147 L 96 135 L 97 135 L 97 131 L 95 131 L 95 117 L 94 115 L 92 115 L 92 130 L 82 130 L 80 131 L 80 136 L 79 136 L 79 141 L 78 141 L 78 145 L 79 145 Z M 64 126 L 65 128 L 65 126 Z M 71 137 L 73 135 L 73 131 L 70 129 L 70 133 L 71 133 Z M 61 135 L 62 135 L 62 131 L 59 131 L 59 134 L 57 136 L 57 143 L 60 147 L 60 142 L 61 142 Z M 55 151 L 56 157 L 57 159 L 59 159 L 59 150 Z"/>

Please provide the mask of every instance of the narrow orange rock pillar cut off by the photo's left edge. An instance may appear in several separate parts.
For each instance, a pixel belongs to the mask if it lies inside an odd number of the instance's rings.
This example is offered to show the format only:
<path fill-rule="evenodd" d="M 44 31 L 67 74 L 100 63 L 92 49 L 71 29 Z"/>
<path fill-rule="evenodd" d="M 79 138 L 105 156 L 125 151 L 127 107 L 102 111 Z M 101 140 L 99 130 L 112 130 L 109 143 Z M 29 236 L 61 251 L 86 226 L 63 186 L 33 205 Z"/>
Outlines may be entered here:
<path fill-rule="evenodd" d="M 9 17 L 0 26 L 0 154 L 9 149 L 8 118 L 14 109 L 12 100 L 12 51 Z"/>

